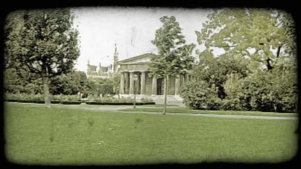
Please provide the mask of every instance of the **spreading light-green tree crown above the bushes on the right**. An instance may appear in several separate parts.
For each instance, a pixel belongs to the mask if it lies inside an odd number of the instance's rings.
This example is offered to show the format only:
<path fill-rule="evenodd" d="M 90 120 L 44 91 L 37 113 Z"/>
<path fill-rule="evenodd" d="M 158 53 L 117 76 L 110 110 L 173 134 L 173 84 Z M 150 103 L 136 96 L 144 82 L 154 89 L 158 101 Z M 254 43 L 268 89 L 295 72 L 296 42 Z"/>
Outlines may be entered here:
<path fill-rule="evenodd" d="M 201 32 L 196 31 L 199 44 L 207 49 L 219 47 L 226 53 L 248 56 L 254 69 L 265 65 L 271 70 L 286 57 L 296 56 L 295 23 L 285 11 L 222 9 L 207 18 Z"/>

